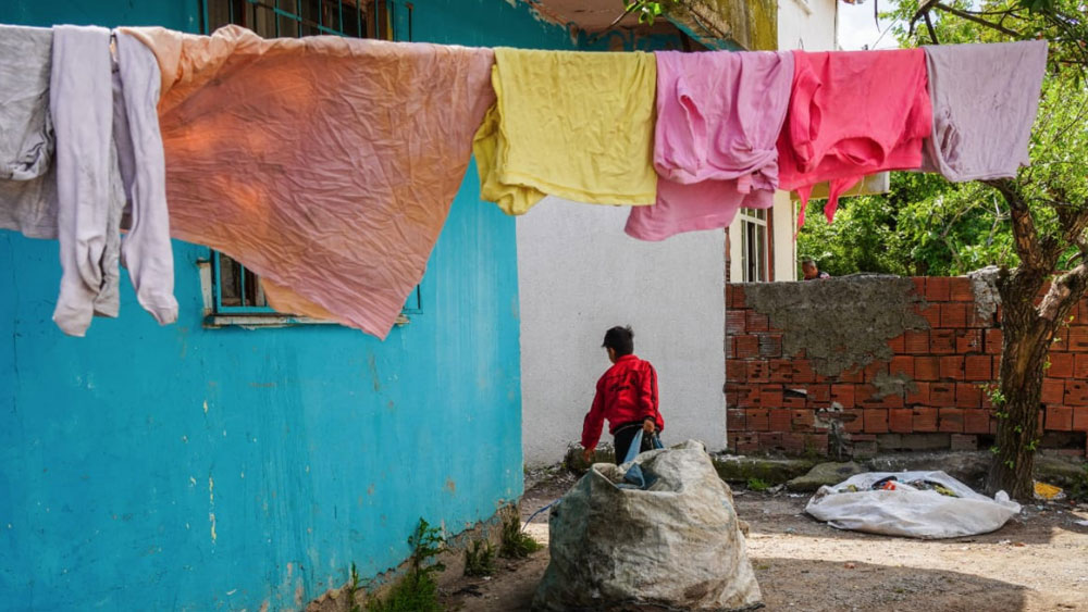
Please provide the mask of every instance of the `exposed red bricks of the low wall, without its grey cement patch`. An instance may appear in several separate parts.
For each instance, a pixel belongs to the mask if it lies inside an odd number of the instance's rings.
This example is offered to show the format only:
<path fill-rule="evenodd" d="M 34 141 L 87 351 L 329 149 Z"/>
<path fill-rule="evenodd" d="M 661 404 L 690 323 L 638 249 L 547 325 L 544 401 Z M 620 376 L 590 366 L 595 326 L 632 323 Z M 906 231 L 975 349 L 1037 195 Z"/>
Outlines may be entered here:
<path fill-rule="evenodd" d="M 929 329 L 888 341 L 892 358 L 834 376 L 817 374 L 805 351 L 782 354 L 782 332 L 747 307 L 743 284 L 726 287 L 726 408 L 733 452 L 828 453 L 842 442 L 856 452 L 878 449 L 986 448 L 997 430 L 982 386 L 1001 363 L 1001 310 L 982 317 L 965 277 L 916 277 L 915 305 Z M 1088 301 L 1075 311 L 1050 353 L 1042 386 L 1043 430 L 1085 453 L 1088 432 Z M 818 322 L 816 322 L 818 324 Z M 877 397 L 878 376 L 912 384 Z M 841 405 L 832 409 L 832 402 Z M 838 422 L 838 424 L 834 424 Z M 1077 442 L 1076 440 L 1081 440 Z"/>

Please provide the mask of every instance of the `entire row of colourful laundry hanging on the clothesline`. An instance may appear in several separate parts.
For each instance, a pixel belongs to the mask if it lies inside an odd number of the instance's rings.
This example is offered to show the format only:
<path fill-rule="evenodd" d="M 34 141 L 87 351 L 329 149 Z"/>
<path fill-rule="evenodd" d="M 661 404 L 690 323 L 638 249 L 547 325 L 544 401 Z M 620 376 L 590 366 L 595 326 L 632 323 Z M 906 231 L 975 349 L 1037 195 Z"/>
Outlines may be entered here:
<path fill-rule="evenodd" d="M 886 170 L 1014 176 L 1047 55 L 1044 41 L 611 53 L 114 35 L 111 55 L 103 28 L 0 26 L 0 87 L 22 101 L 3 111 L 21 129 L 0 139 L 0 228 L 60 240 L 54 320 L 72 335 L 116 316 L 119 259 L 173 322 L 174 237 L 259 274 L 281 312 L 384 338 L 473 153 L 507 214 L 546 195 L 630 205 L 626 232 L 645 240 L 824 182 L 830 220 Z"/>

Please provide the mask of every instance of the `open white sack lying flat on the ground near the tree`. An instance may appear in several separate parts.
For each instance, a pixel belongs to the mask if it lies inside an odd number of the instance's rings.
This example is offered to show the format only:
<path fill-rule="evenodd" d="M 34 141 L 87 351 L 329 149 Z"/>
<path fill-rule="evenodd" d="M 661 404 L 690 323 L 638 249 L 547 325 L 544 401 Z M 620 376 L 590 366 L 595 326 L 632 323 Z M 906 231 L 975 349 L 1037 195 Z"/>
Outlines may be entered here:
<path fill-rule="evenodd" d="M 895 476 L 895 490 L 869 490 L 874 483 Z M 907 485 L 937 483 L 957 497 Z M 850 487 L 856 487 L 853 492 Z M 976 494 L 944 472 L 868 472 L 833 486 L 820 487 L 805 511 L 839 529 L 912 538 L 955 538 L 1001 528 L 1019 513 L 1019 504 L 1004 491 L 994 499 Z"/>

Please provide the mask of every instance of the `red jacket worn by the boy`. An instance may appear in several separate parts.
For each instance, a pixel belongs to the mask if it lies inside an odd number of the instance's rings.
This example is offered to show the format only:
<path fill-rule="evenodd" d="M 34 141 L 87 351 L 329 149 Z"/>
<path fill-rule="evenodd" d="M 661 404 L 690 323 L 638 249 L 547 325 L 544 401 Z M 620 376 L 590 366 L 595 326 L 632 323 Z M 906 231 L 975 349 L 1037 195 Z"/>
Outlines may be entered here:
<path fill-rule="evenodd" d="M 582 423 L 582 447 L 596 448 L 605 419 L 610 434 L 620 425 L 642 423 L 646 419 L 653 419 L 658 430 L 665 428 L 657 405 L 657 372 L 648 361 L 626 354 L 597 380 L 593 408 Z"/>

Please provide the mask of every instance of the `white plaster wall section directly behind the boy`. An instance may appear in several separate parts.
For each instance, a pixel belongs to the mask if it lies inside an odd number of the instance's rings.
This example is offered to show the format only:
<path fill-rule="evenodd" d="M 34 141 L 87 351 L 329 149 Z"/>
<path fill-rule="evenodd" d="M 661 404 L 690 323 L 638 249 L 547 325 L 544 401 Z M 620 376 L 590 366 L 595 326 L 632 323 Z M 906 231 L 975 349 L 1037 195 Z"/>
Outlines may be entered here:
<path fill-rule="evenodd" d="M 630 209 L 547 198 L 518 218 L 522 444 L 530 466 L 555 463 L 581 437 L 601 348 L 634 328 L 635 354 L 657 369 L 666 444 L 726 446 L 725 233 L 660 242 L 623 233 Z M 603 441 L 610 441 L 607 427 Z"/>

